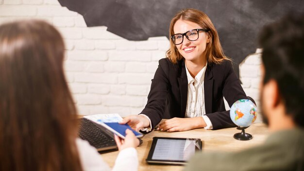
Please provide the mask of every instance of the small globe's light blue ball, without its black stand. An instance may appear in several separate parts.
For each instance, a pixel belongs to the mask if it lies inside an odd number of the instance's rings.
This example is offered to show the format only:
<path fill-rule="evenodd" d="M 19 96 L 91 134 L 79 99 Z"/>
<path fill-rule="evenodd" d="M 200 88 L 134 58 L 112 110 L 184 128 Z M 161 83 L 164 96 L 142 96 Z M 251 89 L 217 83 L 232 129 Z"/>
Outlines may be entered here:
<path fill-rule="evenodd" d="M 250 126 L 256 119 L 257 108 L 249 99 L 241 99 L 230 108 L 230 118 L 239 127 Z"/>

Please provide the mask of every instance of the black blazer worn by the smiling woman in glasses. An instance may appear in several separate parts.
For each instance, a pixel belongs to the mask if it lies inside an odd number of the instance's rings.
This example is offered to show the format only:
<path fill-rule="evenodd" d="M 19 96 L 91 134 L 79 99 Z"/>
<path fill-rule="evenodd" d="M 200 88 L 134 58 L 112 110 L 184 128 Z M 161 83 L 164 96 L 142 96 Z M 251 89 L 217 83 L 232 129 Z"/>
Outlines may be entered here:
<path fill-rule="evenodd" d="M 188 81 L 185 61 L 173 64 L 168 58 L 159 60 L 148 102 L 142 114 L 147 115 L 154 128 L 162 119 L 185 118 Z M 230 61 L 208 63 L 204 79 L 206 116 L 213 129 L 236 126 L 226 111 L 223 96 L 231 107 L 239 99 L 247 99 Z"/>

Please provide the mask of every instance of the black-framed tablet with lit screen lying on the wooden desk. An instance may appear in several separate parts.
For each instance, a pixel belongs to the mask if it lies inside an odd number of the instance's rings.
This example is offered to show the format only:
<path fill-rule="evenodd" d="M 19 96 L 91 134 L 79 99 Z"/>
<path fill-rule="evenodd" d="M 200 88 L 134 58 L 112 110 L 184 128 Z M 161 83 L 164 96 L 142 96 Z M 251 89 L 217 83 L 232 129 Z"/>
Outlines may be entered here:
<path fill-rule="evenodd" d="M 184 165 L 197 151 L 202 151 L 203 142 L 198 138 L 153 137 L 147 163 Z"/>

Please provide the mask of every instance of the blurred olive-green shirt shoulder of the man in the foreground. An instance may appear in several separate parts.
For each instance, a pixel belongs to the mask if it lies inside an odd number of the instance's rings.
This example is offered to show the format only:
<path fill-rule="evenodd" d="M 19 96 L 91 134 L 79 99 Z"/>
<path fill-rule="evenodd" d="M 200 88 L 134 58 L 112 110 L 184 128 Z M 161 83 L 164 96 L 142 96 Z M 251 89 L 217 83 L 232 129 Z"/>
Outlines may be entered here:
<path fill-rule="evenodd" d="M 301 159 L 281 142 L 264 143 L 239 152 L 213 152 L 196 154 L 189 161 L 186 171 L 288 171 Z M 292 147 L 297 148 L 297 147 Z M 291 152 L 290 152 L 291 151 Z M 302 152 L 301 152 L 302 153 Z M 220 163 L 220 165 L 219 165 Z"/>

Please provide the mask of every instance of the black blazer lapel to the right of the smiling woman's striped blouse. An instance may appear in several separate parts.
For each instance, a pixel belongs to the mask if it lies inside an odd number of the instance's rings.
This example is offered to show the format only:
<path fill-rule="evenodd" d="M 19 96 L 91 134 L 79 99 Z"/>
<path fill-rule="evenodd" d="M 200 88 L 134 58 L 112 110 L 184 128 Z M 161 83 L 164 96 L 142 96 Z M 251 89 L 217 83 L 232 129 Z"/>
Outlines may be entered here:
<path fill-rule="evenodd" d="M 206 114 L 212 113 L 212 93 L 213 93 L 213 73 L 212 64 L 207 65 L 205 80 L 204 80 L 204 97 L 205 97 L 205 111 Z"/>

